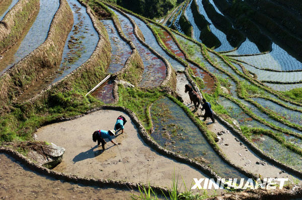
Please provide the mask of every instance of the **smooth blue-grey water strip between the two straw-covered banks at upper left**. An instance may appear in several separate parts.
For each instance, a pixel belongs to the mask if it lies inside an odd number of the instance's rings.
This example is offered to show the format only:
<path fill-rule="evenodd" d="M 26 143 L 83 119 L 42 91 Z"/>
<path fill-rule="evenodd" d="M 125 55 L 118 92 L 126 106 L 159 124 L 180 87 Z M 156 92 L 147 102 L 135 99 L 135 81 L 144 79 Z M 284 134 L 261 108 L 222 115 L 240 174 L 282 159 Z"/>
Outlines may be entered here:
<path fill-rule="evenodd" d="M 51 21 L 58 8 L 58 0 L 40 0 L 40 10 L 35 22 L 21 42 L 12 62 L 8 66 L 1 66 L 0 74 L 6 72 L 45 41 Z"/>

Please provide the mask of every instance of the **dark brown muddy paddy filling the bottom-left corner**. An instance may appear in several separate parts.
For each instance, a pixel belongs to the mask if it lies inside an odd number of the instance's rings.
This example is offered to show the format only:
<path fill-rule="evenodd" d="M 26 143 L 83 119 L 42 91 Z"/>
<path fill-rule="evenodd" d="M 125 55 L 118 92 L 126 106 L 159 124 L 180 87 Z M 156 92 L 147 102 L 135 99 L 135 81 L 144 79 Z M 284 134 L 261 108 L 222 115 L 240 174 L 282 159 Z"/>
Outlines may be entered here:
<path fill-rule="evenodd" d="M 0 154 L 1 199 L 131 199 L 136 191 L 90 187 L 36 173 L 19 161 Z"/>

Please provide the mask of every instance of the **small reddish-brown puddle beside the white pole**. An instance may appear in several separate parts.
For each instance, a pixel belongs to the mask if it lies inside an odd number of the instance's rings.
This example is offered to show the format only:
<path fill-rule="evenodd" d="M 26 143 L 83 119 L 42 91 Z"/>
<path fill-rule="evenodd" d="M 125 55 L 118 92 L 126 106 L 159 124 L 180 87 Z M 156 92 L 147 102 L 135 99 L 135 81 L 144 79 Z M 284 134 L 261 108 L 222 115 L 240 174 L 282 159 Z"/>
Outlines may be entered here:
<path fill-rule="evenodd" d="M 114 82 L 106 81 L 98 89 L 96 89 L 91 95 L 104 103 L 113 103 L 114 102 L 113 88 L 114 88 Z"/>

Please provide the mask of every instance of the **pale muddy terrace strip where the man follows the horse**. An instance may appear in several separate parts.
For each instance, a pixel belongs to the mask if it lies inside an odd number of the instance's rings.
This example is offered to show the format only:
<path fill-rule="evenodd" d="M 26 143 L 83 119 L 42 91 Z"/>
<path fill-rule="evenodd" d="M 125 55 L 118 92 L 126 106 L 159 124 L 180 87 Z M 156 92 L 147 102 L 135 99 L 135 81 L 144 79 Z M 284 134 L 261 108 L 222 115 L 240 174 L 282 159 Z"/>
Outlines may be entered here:
<path fill-rule="evenodd" d="M 183 74 L 179 74 L 177 76 L 176 91 L 183 98 L 183 103 L 187 105 L 191 110 L 193 110 L 194 104 L 190 103 L 191 101 L 189 95 L 184 92 L 185 84 L 188 84 L 188 80 Z M 199 107 L 199 109 L 195 113 L 198 113 L 198 115 L 203 115 L 204 111 L 201 111 Z M 215 121 L 215 123 L 212 123 L 211 119 L 207 118 L 206 123 L 209 130 L 215 132 L 216 134 L 221 133 L 221 131 L 224 132 L 222 135 L 219 135 L 221 139 L 217 142 L 217 144 L 223 151 L 225 156 L 230 159 L 232 163 L 239 165 L 254 174 L 260 174 L 261 177 L 264 178 L 284 177 L 289 178 L 289 180 L 293 179 L 290 174 L 282 172 L 282 169 L 279 169 L 269 163 L 264 162 L 264 165 L 256 164 L 258 162 L 262 163 L 262 159 L 252 151 L 250 151 L 246 147 L 246 145 L 241 143 L 240 140 L 236 138 L 236 136 L 234 136 L 225 126 L 217 122 L 217 120 Z"/>

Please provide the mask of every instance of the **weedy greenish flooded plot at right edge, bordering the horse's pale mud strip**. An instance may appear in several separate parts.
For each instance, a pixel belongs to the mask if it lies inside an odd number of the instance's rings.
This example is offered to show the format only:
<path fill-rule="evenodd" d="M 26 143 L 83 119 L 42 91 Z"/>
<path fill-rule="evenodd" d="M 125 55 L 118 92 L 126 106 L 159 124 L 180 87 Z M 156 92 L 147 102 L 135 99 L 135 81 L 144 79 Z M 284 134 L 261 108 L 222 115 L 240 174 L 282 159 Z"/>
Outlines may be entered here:
<path fill-rule="evenodd" d="M 298 154 L 284 148 L 280 143 L 265 135 L 253 135 L 251 137 L 259 149 L 280 162 L 301 171 L 302 159 Z"/>

